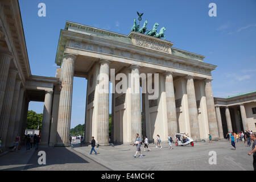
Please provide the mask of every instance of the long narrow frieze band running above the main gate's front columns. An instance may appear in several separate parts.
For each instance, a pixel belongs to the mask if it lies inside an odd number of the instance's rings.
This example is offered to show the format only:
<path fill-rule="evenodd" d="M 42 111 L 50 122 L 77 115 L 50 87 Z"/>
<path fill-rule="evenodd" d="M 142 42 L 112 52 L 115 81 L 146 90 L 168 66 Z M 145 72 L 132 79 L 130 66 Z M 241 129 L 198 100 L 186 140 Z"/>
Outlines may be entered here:
<path fill-rule="evenodd" d="M 81 43 L 81 42 L 69 41 L 69 47 L 85 49 L 88 51 L 107 53 L 110 55 L 127 57 L 129 59 L 137 59 L 139 61 L 145 61 L 147 63 L 154 63 L 154 64 L 159 64 L 159 65 L 163 65 L 163 66 L 167 66 L 167 67 L 184 69 L 187 71 L 198 72 L 198 73 L 210 75 L 209 69 L 193 67 L 192 65 L 176 63 L 176 62 L 163 60 L 163 59 L 157 59 L 156 57 L 140 55 L 138 53 L 123 51 L 121 49 L 113 49 L 113 48 L 109 48 L 109 47 L 98 46 L 96 44 L 88 44 L 88 43 L 84 43 L 84 42 Z"/>

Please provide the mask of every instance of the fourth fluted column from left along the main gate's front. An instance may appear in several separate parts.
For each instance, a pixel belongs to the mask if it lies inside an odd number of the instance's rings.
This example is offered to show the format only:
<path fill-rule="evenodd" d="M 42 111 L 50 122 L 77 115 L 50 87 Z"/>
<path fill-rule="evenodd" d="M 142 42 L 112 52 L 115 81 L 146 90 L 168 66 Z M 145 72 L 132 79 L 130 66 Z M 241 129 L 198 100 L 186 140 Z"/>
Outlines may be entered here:
<path fill-rule="evenodd" d="M 167 121 L 168 121 L 168 134 L 174 136 L 177 133 L 177 116 L 175 106 L 174 94 L 174 80 L 172 73 L 167 72 L 166 77 L 166 107 L 167 107 Z"/>

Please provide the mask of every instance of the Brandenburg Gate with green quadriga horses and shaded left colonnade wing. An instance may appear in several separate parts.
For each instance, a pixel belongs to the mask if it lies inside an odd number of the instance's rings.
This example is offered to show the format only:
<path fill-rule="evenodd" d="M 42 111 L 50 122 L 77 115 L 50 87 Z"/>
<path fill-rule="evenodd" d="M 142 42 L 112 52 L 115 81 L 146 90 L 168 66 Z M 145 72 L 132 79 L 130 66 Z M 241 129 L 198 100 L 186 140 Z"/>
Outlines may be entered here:
<path fill-rule="evenodd" d="M 30 101 L 44 102 L 41 144 L 69 145 L 73 77 L 88 81 L 86 142 L 93 136 L 101 146 L 108 145 L 109 138 L 116 144 L 131 143 L 137 133 L 149 140 L 157 134 L 167 140 L 168 134 L 176 133 L 187 133 L 194 140 L 207 139 L 208 134 L 223 138 L 211 84 L 216 65 L 161 39 L 165 27 L 156 33 L 155 23 L 144 34 L 147 21 L 138 30 L 134 20 L 130 34 L 122 35 L 66 22 L 57 46 L 56 77 L 35 76 L 30 71 L 18 1 L 1 1 L 0 10 L 2 147 L 24 134 Z"/>

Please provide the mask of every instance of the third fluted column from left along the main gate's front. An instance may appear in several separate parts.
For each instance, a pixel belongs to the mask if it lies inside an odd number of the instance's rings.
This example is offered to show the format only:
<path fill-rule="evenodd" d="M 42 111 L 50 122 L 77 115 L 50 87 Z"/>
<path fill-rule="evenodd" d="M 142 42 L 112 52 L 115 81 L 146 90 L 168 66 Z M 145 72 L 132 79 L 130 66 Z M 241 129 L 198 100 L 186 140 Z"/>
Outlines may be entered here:
<path fill-rule="evenodd" d="M 141 137 L 141 94 L 139 84 L 139 67 L 131 65 L 131 141 L 135 141 L 136 134 Z"/>

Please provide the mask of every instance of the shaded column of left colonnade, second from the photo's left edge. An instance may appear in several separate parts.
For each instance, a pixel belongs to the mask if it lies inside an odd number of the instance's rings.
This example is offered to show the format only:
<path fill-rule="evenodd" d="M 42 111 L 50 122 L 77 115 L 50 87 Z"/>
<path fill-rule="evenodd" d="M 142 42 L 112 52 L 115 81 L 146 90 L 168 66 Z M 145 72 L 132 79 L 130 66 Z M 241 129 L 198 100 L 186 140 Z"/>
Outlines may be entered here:
<path fill-rule="evenodd" d="M 15 87 L 17 73 L 18 72 L 15 71 L 14 69 L 10 69 L 8 78 L 7 78 L 5 99 L 3 100 L 2 112 L 0 117 L 0 134 L 2 137 L 3 147 L 5 147 L 6 145 L 6 136 L 7 136 L 7 130 L 9 126 L 10 117 L 11 117 L 11 105 L 13 104 L 14 87 Z"/>

